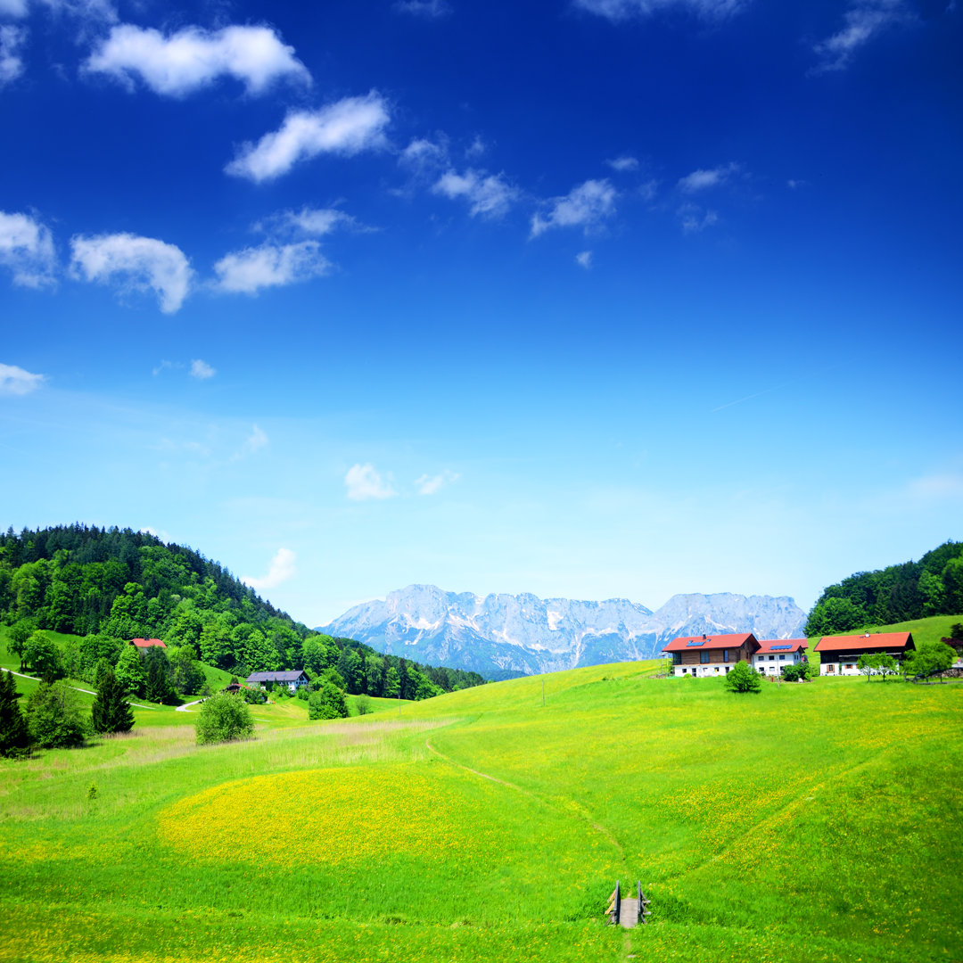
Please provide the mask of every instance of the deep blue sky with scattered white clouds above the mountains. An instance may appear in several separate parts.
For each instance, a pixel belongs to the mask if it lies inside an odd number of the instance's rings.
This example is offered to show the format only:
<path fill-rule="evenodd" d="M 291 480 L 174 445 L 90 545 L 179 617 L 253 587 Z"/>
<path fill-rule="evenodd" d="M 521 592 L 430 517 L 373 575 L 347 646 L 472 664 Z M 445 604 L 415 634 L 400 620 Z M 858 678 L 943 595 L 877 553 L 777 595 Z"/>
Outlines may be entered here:
<path fill-rule="evenodd" d="M 0 524 L 308 624 L 963 538 L 963 11 L 0 0 Z"/>

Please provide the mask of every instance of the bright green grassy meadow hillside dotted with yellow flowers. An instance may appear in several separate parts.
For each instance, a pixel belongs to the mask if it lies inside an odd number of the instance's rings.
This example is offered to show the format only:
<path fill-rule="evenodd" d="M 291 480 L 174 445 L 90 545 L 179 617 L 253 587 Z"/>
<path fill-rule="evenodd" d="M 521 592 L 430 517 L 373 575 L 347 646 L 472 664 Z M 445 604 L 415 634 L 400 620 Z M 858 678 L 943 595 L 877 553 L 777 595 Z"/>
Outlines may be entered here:
<path fill-rule="evenodd" d="M 963 958 L 963 686 L 655 667 L 0 762 L 0 958 Z M 616 878 L 652 924 L 603 924 Z"/>

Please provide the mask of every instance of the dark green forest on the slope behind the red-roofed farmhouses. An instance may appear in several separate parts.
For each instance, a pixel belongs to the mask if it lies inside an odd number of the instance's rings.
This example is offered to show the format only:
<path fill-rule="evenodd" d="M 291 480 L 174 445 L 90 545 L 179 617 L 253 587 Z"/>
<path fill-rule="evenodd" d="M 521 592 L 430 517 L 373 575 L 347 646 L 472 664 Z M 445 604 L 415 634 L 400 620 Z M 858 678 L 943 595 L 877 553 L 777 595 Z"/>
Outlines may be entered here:
<path fill-rule="evenodd" d="M 809 613 L 807 638 L 963 614 L 963 542 L 948 541 L 919 561 L 857 572 L 824 589 Z"/>

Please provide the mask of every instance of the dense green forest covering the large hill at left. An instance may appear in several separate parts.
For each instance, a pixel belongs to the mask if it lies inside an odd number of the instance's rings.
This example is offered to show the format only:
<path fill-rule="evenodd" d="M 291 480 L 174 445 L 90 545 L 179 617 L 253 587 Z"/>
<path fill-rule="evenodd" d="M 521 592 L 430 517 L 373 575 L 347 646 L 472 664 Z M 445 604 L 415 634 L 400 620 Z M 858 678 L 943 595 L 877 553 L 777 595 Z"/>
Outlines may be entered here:
<path fill-rule="evenodd" d="M 310 630 L 217 562 L 130 529 L 70 525 L 0 534 L 0 623 L 12 626 L 21 658 L 26 651 L 28 660 L 53 660 L 61 674 L 89 682 L 106 661 L 133 672 L 129 688 L 142 695 L 150 660 L 158 656 L 142 656 L 140 675 L 137 666 L 118 665 L 121 657 L 130 660 L 125 650 L 133 651 L 125 643 L 139 637 L 167 643 L 167 664 L 156 671 L 183 694 L 199 685 L 202 673 L 192 666 L 197 660 L 241 677 L 274 669 L 302 668 L 312 676 L 334 670 L 352 694 L 410 699 L 484 682 L 477 672 L 408 662 Z M 80 638 L 52 652 L 44 630 Z M 38 632 L 31 649 L 27 641 Z"/>

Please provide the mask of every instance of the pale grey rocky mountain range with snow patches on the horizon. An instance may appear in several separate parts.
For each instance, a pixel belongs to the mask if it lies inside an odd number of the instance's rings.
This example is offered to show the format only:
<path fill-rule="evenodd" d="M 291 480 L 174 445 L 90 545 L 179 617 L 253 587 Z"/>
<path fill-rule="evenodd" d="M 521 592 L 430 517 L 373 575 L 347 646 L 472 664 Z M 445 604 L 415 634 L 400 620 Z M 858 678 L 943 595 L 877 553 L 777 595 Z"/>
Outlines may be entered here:
<path fill-rule="evenodd" d="M 408 586 L 323 626 L 381 652 L 473 669 L 490 679 L 651 659 L 676 636 L 752 632 L 794 638 L 806 614 L 786 596 L 673 595 L 656 612 L 628 599 L 579 602 Z"/>

